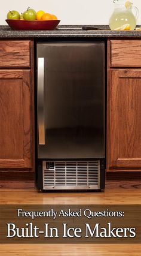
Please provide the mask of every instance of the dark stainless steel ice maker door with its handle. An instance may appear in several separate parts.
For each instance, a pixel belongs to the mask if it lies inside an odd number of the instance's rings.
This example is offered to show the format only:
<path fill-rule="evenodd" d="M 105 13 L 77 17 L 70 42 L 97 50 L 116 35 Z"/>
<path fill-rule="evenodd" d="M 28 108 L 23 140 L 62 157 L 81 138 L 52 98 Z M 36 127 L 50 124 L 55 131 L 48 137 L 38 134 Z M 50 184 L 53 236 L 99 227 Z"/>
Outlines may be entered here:
<path fill-rule="evenodd" d="M 38 158 L 103 158 L 105 44 L 38 43 Z"/>

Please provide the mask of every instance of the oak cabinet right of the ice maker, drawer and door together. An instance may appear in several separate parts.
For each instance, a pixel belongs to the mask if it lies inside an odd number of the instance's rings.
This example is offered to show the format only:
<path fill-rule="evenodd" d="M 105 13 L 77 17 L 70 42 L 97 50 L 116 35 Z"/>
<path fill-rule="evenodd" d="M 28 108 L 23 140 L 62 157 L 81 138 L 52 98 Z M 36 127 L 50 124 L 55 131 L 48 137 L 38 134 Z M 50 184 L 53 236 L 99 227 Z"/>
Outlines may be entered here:
<path fill-rule="evenodd" d="M 141 170 L 141 40 L 108 39 L 107 171 Z"/>

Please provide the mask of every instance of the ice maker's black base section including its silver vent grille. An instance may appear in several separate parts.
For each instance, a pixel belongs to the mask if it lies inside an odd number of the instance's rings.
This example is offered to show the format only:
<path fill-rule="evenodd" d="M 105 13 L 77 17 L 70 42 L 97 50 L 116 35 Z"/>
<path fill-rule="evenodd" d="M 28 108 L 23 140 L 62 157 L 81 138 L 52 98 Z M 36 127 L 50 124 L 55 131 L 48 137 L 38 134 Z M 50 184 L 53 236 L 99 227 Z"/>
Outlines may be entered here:
<path fill-rule="evenodd" d="M 105 188 L 105 159 L 38 161 L 37 188 L 41 190 L 98 190 Z"/>

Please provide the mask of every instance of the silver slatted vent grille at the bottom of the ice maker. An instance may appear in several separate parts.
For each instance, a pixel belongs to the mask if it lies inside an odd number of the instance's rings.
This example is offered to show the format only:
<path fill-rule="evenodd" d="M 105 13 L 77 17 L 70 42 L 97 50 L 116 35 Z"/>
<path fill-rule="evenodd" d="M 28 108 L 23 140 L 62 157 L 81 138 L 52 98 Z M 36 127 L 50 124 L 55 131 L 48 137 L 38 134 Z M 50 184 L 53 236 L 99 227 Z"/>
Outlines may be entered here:
<path fill-rule="evenodd" d="M 44 189 L 99 189 L 100 161 L 43 161 Z"/>

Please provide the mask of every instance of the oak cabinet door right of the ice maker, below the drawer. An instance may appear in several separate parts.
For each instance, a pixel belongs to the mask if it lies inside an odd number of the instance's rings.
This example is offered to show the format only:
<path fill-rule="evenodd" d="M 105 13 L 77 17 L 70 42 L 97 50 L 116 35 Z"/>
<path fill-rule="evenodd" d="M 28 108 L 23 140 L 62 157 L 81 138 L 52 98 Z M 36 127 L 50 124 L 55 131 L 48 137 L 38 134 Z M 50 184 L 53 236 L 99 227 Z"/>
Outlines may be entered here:
<path fill-rule="evenodd" d="M 109 168 L 141 168 L 141 70 L 112 70 Z"/>

